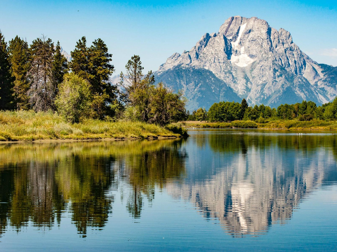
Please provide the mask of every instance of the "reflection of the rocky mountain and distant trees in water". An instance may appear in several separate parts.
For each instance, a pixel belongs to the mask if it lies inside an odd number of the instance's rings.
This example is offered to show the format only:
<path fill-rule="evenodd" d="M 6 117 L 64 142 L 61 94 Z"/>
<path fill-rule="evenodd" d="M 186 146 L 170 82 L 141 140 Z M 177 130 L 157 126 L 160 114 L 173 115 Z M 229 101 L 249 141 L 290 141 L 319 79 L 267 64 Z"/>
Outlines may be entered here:
<path fill-rule="evenodd" d="M 235 237 L 261 234 L 291 218 L 305 194 L 336 183 L 336 137 L 331 134 L 195 133 L 205 149 L 189 152 L 188 183 L 168 191 L 189 200 L 206 219 L 218 219 Z M 197 164 L 202 164 L 195 169 Z"/>

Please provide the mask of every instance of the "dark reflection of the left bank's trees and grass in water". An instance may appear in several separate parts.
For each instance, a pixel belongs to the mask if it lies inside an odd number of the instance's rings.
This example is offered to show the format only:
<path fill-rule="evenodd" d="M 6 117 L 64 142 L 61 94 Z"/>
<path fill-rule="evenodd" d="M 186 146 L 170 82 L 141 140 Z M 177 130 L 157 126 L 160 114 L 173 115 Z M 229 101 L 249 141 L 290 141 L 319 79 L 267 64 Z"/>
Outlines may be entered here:
<path fill-rule="evenodd" d="M 112 212 L 120 180 L 132 190 L 127 202 L 139 218 L 144 195 L 184 174 L 182 140 L 1 145 L 0 234 L 7 225 L 20 231 L 52 228 L 64 211 L 80 234 L 102 228 Z M 124 185 L 123 183 L 121 185 Z M 125 186 L 125 185 L 124 185 Z"/>

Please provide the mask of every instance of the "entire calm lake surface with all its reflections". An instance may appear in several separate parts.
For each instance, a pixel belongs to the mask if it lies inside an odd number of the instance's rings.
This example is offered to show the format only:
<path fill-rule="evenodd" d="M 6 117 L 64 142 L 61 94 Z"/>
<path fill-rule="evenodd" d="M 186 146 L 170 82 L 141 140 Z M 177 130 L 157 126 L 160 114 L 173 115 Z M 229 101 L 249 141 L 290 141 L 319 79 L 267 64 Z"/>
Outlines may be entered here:
<path fill-rule="evenodd" d="M 0 250 L 337 250 L 337 134 L 0 144 Z"/>

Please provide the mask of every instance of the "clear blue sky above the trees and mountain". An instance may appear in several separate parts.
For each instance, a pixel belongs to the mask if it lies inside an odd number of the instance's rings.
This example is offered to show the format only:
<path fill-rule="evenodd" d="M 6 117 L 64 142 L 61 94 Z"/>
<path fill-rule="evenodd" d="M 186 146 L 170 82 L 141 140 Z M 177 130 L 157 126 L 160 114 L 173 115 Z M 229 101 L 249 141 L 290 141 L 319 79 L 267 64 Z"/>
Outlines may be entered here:
<path fill-rule="evenodd" d="M 146 71 L 157 70 L 235 15 L 282 27 L 313 60 L 337 66 L 337 1 L 0 0 L 0 13 L 7 41 L 19 35 L 31 42 L 44 33 L 70 54 L 82 36 L 88 45 L 102 38 L 113 54 L 115 74 L 134 54 Z"/>

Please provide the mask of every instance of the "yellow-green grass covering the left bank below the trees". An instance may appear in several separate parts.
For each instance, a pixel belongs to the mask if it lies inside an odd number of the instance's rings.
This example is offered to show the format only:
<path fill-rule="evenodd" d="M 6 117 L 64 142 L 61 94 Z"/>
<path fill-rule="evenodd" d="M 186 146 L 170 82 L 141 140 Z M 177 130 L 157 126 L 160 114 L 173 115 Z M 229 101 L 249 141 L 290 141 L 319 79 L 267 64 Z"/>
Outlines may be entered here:
<path fill-rule="evenodd" d="M 143 122 L 88 119 L 71 124 L 53 112 L 0 111 L 0 141 L 179 137 L 169 128 Z"/>

